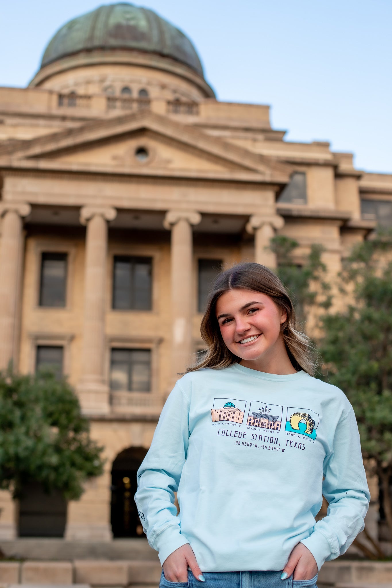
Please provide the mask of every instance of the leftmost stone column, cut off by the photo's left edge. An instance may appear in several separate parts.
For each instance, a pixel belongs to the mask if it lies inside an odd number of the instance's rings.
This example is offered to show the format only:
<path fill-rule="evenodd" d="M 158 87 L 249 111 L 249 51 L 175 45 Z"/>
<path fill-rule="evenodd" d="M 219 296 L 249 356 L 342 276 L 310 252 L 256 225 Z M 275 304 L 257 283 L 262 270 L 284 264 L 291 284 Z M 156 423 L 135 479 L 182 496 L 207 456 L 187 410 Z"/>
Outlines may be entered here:
<path fill-rule="evenodd" d="M 0 369 L 10 360 L 16 363 L 18 308 L 21 296 L 23 222 L 31 212 L 27 203 L 1 203 L 2 235 L 0 249 Z M 17 368 L 17 366 L 15 366 Z"/>

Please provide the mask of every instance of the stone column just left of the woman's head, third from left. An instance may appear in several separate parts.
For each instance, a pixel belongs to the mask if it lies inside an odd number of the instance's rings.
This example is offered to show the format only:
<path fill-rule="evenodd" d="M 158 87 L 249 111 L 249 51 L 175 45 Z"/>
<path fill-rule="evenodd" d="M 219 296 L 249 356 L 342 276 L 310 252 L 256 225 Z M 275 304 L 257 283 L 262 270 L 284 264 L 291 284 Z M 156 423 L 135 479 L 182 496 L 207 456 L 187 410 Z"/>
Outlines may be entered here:
<path fill-rule="evenodd" d="M 163 222 L 172 230 L 170 273 L 172 288 L 172 372 L 185 371 L 192 349 L 192 225 L 202 216 L 195 211 L 168 211 Z"/>

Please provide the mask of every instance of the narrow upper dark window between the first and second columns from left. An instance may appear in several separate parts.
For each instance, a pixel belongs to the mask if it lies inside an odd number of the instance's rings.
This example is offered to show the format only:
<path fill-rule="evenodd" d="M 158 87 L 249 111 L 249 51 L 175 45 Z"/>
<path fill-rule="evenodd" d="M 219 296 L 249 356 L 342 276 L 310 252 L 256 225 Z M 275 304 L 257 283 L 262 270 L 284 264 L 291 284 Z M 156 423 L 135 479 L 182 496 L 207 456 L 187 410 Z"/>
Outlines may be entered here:
<path fill-rule="evenodd" d="M 42 253 L 39 306 L 65 306 L 66 272 L 66 253 Z"/>

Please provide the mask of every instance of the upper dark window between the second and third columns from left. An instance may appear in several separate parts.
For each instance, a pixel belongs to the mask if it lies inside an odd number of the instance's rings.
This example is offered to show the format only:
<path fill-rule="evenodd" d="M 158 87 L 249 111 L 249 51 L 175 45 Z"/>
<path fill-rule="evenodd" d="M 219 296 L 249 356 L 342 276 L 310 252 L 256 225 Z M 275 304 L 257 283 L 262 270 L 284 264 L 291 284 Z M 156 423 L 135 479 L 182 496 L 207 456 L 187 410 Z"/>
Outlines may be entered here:
<path fill-rule="evenodd" d="M 113 267 L 113 308 L 151 310 L 152 258 L 116 255 Z"/>

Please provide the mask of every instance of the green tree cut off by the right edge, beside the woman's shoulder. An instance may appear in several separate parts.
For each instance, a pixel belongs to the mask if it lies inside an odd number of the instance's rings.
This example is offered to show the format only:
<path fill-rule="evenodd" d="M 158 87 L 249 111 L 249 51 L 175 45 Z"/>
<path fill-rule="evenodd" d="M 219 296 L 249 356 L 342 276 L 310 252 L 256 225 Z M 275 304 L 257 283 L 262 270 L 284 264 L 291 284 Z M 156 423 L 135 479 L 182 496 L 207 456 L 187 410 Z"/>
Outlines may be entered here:
<path fill-rule="evenodd" d="M 353 405 L 392 536 L 392 234 L 354 248 L 341 272 L 341 294 L 350 301 L 345 309 L 321 320 L 323 374 Z"/>

